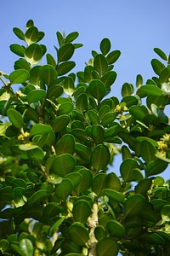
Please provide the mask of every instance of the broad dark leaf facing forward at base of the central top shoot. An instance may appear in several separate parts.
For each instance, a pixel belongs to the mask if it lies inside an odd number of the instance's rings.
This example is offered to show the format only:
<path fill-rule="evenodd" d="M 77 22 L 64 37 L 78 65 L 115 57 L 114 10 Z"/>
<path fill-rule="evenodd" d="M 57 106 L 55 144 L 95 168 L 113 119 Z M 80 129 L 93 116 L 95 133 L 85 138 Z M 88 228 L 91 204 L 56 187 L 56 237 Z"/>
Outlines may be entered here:
<path fill-rule="evenodd" d="M 89 93 L 100 102 L 105 96 L 105 85 L 99 80 L 93 80 L 88 86 Z"/>

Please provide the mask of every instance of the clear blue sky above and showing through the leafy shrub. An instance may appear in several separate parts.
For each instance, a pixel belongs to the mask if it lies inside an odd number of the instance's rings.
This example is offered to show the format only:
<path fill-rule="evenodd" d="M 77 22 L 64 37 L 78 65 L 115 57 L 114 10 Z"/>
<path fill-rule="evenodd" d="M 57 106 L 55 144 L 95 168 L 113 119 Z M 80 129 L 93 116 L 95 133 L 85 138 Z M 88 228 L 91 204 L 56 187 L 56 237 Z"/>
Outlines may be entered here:
<path fill-rule="evenodd" d="M 118 97 L 122 84 L 135 84 L 137 74 L 143 75 L 144 82 L 154 75 L 150 66 L 151 59 L 156 57 L 153 48 L 161 48 L 167 55 L 170 52 L 169 0 L 6 0 L 0 8 L 0 70 L 5 73 L 13 71 L 14 61 L 18 59 L 10 52 L 9 45 L 21 42 L 12 29 L 17 26 L 25 30 L 30 19 L 45 32 L 42 44 L 47 45 L 52 55 L 57 31 L 80 33 L 77 43 L 84 46 L 77 49 L 74 57 L 75 71 L 83 70 L 91 50 L 99 49 L 102 38 L 110 38 L 112 49 L 122 51 L 115 65 L 118 77 L 111 92 Z M 114 172 L 118 166 L 116 160 Z M 169 172 L 170 168 L 163 173 L 166 179 L 170 177 Z"/>

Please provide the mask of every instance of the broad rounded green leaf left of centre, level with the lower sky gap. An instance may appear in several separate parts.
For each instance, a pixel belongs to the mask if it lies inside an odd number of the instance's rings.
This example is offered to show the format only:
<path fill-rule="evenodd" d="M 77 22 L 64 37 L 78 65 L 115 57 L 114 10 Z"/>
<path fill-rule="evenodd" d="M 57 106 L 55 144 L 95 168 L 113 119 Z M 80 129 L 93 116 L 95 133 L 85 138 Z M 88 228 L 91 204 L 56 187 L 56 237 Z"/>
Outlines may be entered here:
<path fill-rule="evenodd" d="M 59 154 L 54 160 L 52 171 L 61 177 L 73 172 L 76 166 L 76 160 L 71 154 Z"/>

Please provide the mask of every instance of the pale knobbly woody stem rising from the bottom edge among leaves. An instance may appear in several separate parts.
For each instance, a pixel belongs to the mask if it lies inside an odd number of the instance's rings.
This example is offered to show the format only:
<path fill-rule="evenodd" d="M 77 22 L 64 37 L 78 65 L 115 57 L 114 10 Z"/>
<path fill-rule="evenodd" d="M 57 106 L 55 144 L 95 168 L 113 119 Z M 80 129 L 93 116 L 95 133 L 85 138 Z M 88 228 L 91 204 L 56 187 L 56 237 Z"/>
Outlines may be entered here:
<path fill-rule="evenodd" d="M 88 241 L 88 246 L 89 246 L 88 256 L 97 256 L 97 252 L 96 252 L 97 240 L 94 236 L 94 229 L 97 226 L 97 224 L 98 224 L 98 204 L 94 203 L 92 217 L 88 218 L 88 227 L 90 229 L 89 241 Z"/>

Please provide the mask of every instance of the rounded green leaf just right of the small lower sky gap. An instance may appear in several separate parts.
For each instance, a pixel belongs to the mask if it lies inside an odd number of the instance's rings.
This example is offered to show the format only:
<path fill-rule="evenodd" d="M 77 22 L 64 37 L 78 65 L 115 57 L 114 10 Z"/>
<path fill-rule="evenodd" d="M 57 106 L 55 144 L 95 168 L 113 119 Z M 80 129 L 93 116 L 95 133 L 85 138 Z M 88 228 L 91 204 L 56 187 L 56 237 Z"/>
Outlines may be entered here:
<path fill-rule="evenodd" d="M 135 177 L 133 177 L 133 170 L 136 168 L 139 168 L 139 165 L 137 161 L 133 159 L 127 158 L 122 162 L 120 172 L 124 181 L 131 182 L 135 180 Z"/>

